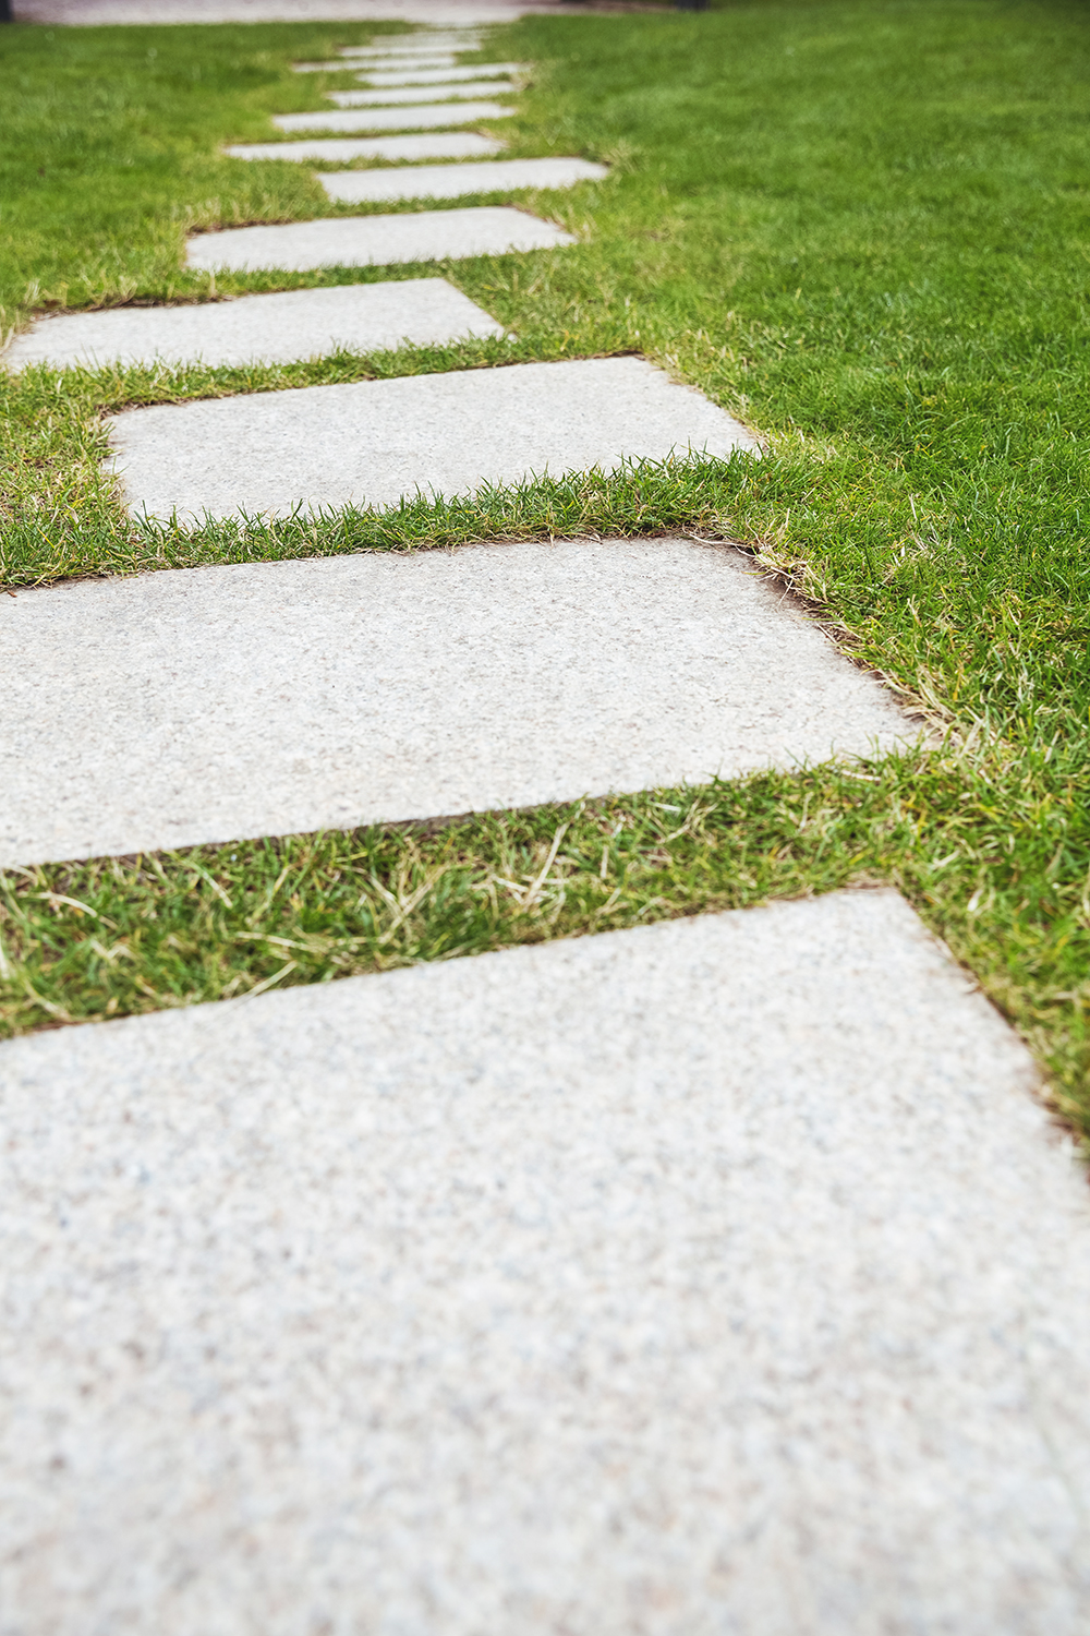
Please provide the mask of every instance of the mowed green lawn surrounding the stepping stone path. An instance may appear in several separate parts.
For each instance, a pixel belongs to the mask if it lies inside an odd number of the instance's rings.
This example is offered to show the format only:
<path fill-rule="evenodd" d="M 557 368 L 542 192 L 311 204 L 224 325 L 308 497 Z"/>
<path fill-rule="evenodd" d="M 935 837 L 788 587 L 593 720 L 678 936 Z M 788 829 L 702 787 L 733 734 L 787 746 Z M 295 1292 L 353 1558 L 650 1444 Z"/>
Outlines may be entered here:
<path fill-rule="evenodd" d="M 28 309 L 418 276 L 214 286 L 181 265 L 186 231 L 345 213 L 306 167 L 217 149 L 268 137 L 270 113 L 350 85 L 289 64 L 368 34 L 5 29 L 5 330 Z M 538 65 L 503 128 L 511 154 L 613 165 L 605 183 L 526 195 L 579 234 L 575 249 L 443 268 L 518 339 L 3 381 L 2 584 L 20 594 L 85 573 L 688 528 L 753 550 L 945 739 L 853 769 L 436 833 L 8 870 L 0 1027 L 891 882 L 1090 1134 L 1085 5 L 770 0 L 547 16 L 497 31 L 487 54 Z M 739 414 L 768 456 L 245 533 L 137 527 L 100 474 L 103 414 L 124 406 L 626 350 Z"/>

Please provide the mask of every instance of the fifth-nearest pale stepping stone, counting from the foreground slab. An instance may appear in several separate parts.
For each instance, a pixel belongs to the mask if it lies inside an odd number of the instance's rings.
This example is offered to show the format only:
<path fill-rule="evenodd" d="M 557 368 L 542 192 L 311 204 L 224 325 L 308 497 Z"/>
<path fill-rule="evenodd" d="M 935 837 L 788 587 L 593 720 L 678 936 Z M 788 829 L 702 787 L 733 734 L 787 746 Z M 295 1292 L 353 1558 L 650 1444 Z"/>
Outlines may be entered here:
<path fill-rule="evenodd" d="M 556 250 L 567 244 L 575 239 L 551 221 L 538 221 L 521 209 L 482 206 L 201 232 L 186 245 L 186 265 L 206 272 L 275 268 L 302 273 L 317 267 L 394 267 L 397 262 Z"/>

